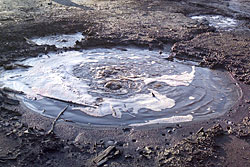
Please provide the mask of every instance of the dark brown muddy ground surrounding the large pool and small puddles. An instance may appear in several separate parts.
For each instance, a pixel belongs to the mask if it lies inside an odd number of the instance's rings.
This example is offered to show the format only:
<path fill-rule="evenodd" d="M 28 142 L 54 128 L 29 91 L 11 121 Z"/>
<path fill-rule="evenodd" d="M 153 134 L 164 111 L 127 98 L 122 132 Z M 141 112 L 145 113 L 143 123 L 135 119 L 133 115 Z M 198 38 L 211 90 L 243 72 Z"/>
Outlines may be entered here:
<path fill-rule="evenodd" d="M 189 17 L 199 14 L 240 24 L 217 31 Z M 249 28 L 249 0 L 0 0 L 1 66 L 58 50 L 26 38 L 80 31 L 85 40 L 67 50 L 173 44 L 173 58 L 226 69 L 243 92 L 216 119 L 142 128 L 58 121 L 48 134 L 54 119 L 28 111 L 1 90 L 0 166 L 249 166 Z"/>

